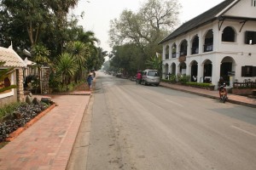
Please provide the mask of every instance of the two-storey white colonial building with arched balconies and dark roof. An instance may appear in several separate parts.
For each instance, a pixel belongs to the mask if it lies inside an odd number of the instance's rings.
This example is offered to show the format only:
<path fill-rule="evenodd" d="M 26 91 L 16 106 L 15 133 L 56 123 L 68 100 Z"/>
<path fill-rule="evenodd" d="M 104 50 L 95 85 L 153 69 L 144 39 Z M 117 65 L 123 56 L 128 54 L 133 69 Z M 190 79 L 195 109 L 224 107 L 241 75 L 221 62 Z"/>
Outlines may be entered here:
<path fill-rule="evenodd" d="M 189 75 L 217 85 L 256 81 L 256 0 L 224 0 L 161 42 L 163 78 Z M 217 87 L 217 86 L 215 86 Z"/>

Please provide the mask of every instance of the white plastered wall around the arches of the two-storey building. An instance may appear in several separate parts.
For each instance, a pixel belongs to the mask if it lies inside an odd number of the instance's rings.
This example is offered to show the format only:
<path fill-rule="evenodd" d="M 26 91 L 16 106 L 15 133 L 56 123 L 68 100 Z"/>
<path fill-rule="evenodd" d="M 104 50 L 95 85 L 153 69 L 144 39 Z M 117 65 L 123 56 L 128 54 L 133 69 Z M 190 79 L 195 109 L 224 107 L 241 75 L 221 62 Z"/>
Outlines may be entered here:
<path fill-rule="evenodd" d="M 237 79 L 239 82 L 242 82 L 244 79 L 251 78 L 252 80 L 256 77 L 241 77 L 241 66 L 243 65 L 253 65 L 256 66 L 256 45 L 245 44 L 245 31 L 256 31 L 256 21 L 247 21 L 244 26 L 240 23 L 239 20 L 224 20 L 220 30 L 218 30 L 218 20 L 208 24 L 206 26 L 201 26 L 200 28 L 190 31 L 176 39 L 172 39 L 169 42 L 163 44 L 163 65 L 169 65 L 168 71 L 172 69 L 170 66 L 172 63 L 176 64 L 176 73 L 178 73 L 178 68 L 180 62 L 178 61 L 179 57 L 179 46 L 183 39 L 186 39 L 188 42 L 188 54 L 186 56 L 185 64 L 187 65 L 186 75 L 190 75 L 190 64 L 193 60 L 198 63 L 198 82 L 201 82 L 203 63 L 207 59 L 212 61 L 212 84 L 217 85 L 220 75 L 220 65 L 224 59 L 229 58 L 233 62 L 232 71 L 236 72 L 236 75 L 232 77 L 234 81 Z M 235 42 L 222 42 L 222 32 L 226 26 L 231 26 L 236 31 L 236 41 Z M 213 50 L 212 52 L 202 53 L 204 37 L 208 30 L 213 31 Z M 191 54 L 192 38 L 198 35 L 199 37 L 199 54 Z M 172 53 L 169 53 L 169 59 L 166 59 L 166 46 L 168 45 L 172 48 L 172 44 L 177 44 L 177 58 L 172 58 Z M 163 71 L 166 72 L 166 68 L 163 68 Z M 171 72 L 172 73 L 172 72 Z"/>

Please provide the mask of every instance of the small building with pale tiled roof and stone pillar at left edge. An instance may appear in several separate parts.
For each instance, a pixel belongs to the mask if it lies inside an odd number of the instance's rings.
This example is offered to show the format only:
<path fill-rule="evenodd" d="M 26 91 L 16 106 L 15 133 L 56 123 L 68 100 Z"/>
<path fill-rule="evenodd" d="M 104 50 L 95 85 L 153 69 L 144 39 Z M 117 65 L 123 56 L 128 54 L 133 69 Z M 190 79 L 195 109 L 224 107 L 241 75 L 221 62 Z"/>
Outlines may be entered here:
<path fill-rule="evenodd" d="M 0 88 L 17 85 L 17 88 L 0 93 L 0 107 L 16 101 L 24 101 L 23 68 L 26 67 L 26 63 L 15 53 L 12 46 L 9 48 L 0 47 L 0 61 L 5 62 L 4 65 L 0 65 L 0 69 L 15 68 L 9 77 L 0 82 Z"/>

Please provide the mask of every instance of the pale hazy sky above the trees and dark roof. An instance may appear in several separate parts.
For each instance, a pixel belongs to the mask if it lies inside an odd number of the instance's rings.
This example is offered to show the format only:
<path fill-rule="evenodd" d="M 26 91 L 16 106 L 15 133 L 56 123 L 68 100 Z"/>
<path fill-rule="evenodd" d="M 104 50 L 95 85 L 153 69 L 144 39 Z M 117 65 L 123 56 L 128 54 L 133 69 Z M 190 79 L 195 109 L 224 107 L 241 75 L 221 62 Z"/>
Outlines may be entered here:
<path fill-rule="evenodd" d="M 88 3 L 88 1 L 90 3 Z M 119 19 L 119 14 L 127 8 L 133 12 L 142 6 L 147 0 L 79 0 L 78 7 L 75 8 L 75 14 L 81 14 L 84 11 L 84 19 L 79 20 L 79 25 L 84 26 L 85 31 L 95 32 L 96 38 L 101 41 L 100 47 L 108 52 L 111 50 L 108 46 L 109 21 L 115 18 Z M 181 23 L 190 20 L 212 8 L 224 0 L 178 0 L 181 3 L 179 20 Z"/>

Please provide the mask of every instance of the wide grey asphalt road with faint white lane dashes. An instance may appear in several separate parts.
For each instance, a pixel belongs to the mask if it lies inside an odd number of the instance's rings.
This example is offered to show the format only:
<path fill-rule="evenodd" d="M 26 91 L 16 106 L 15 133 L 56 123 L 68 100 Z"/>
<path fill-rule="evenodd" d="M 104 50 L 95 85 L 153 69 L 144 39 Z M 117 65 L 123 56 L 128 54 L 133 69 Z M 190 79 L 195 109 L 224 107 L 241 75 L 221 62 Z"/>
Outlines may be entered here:
<path fill-rule="evenodd" d="M 67 169 L 255 170 L 256 109 L 100 73 Z"/>

